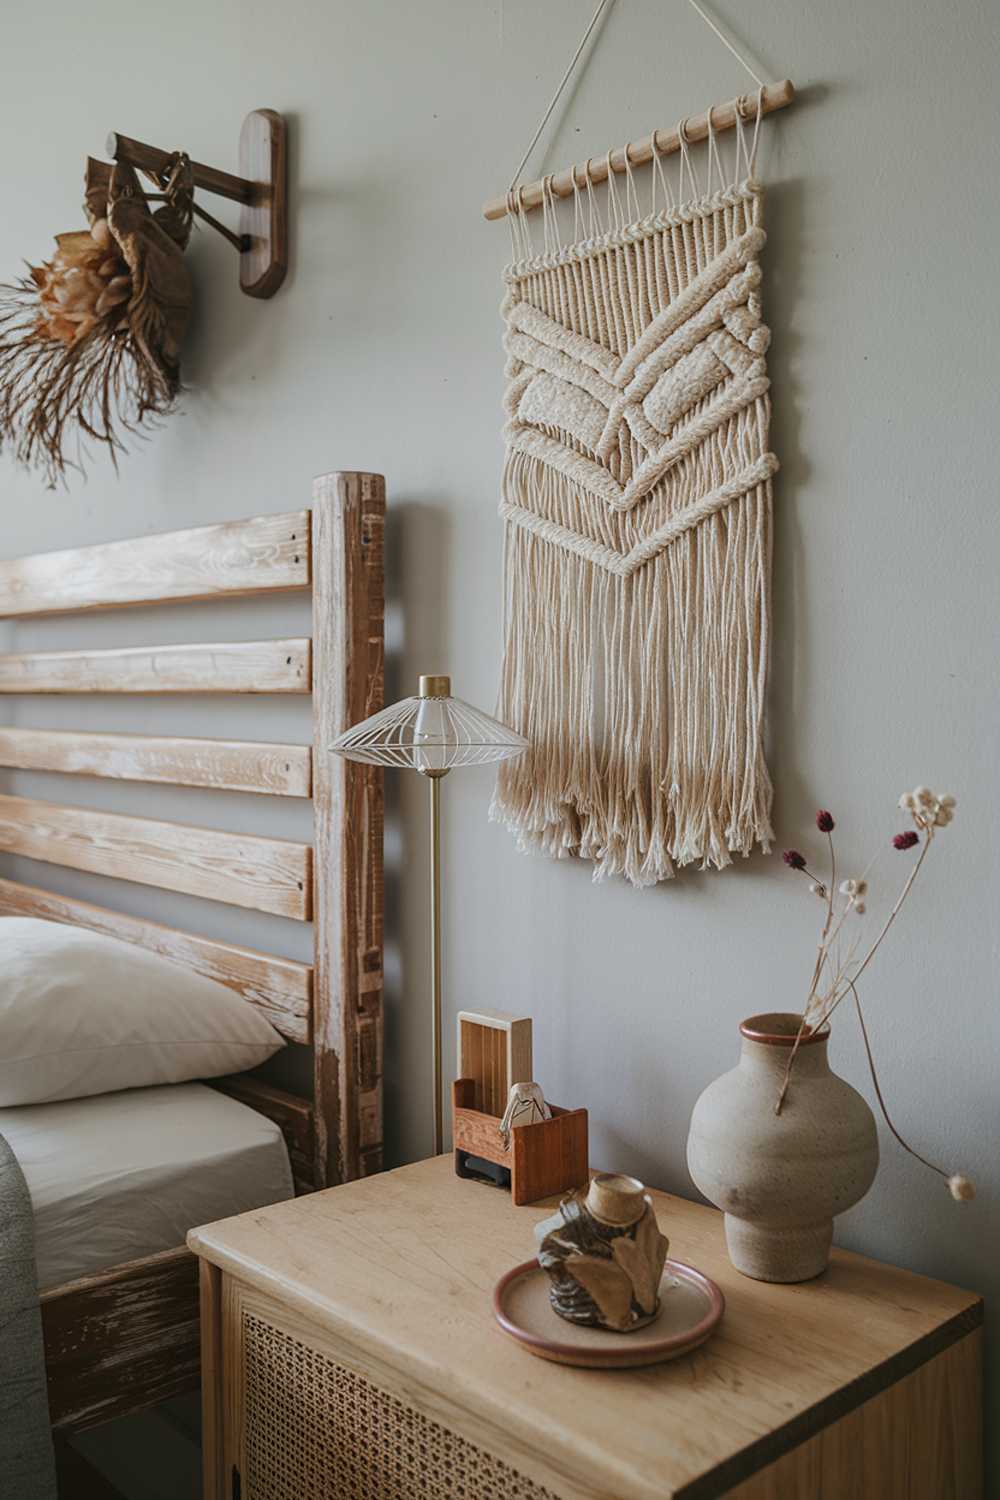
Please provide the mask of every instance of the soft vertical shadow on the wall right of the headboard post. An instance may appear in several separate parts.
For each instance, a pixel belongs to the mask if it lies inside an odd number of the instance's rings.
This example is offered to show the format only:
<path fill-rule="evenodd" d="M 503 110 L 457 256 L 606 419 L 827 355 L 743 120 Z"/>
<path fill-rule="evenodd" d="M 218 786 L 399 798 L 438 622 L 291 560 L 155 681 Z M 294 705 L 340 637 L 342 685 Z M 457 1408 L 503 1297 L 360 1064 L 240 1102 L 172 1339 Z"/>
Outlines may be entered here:
<path fill-rule="evenodd" d="M 453 524 L 442 504 L 391 495 L 385 518 L 385 702 L 447 672 Z M 385 1166 L 429 1155 L 426 1080 L 430 858 L 424 778 L 385 774 Z M 424 1058 L 424 1050 L 427 1056 Z M 427 1149 L 420 1142 L 427 1132 Z"/>

